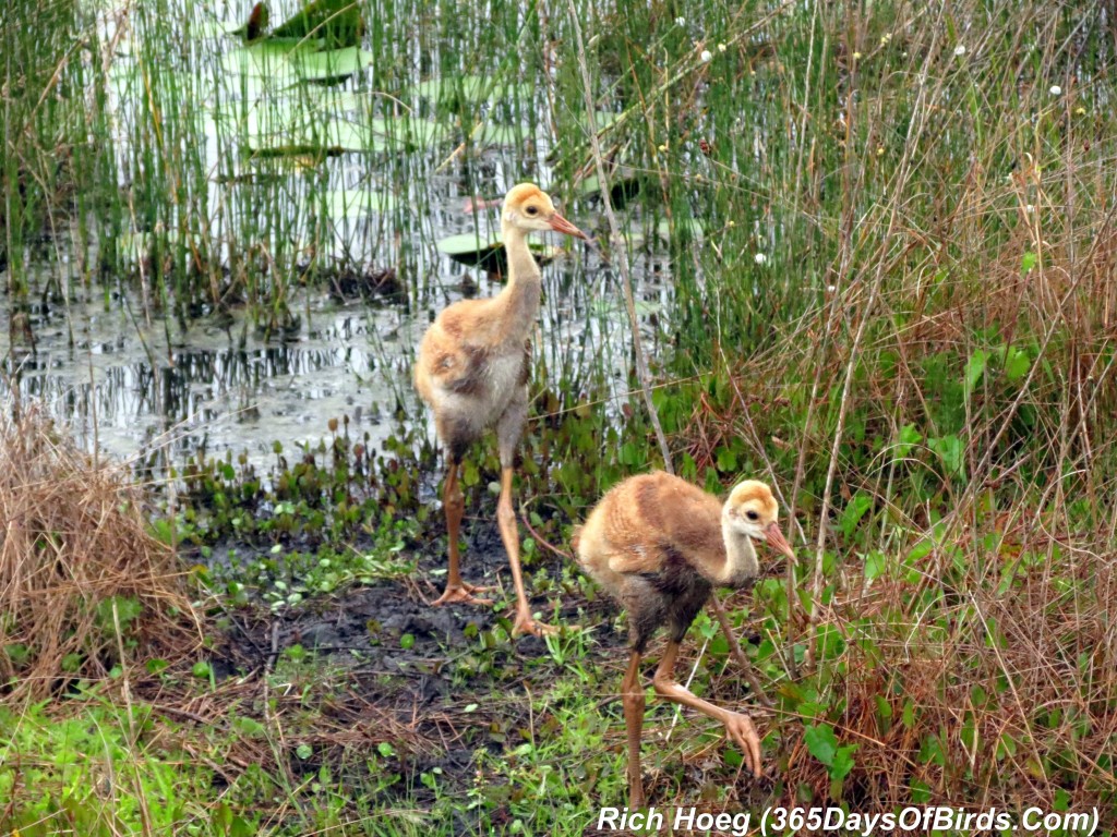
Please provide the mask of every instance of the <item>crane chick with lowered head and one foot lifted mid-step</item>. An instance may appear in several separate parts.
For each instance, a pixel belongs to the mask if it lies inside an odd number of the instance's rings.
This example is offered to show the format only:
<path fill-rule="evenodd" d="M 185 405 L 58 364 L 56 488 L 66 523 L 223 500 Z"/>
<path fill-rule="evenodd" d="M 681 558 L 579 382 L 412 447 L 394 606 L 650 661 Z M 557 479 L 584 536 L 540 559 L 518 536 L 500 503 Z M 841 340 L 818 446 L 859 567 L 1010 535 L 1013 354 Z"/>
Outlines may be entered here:
<path fill-rule="evenodd" d="M 760 566 L 752 541 L 766 540 L 790 558 L 776 521 L 771 489 L 746 480 L 723 506 L 716 498 L 667 473 L 632 477 L 613 487 L 575 535 L 579 562 L 629 614 L 632 648 L 621 684 L 628 727 L 629 807 L 645 805 L 640 730 L 645 693 L 640 657 L 656 629 L 669 641 L 652 683 L 656 694 L 725 724 L 745 764 L 761 775 L 761 740 L 747 715 L 715 706 L 676 683 L 675 658 L 687 628 L 714 587 L 748 587 Z"/>

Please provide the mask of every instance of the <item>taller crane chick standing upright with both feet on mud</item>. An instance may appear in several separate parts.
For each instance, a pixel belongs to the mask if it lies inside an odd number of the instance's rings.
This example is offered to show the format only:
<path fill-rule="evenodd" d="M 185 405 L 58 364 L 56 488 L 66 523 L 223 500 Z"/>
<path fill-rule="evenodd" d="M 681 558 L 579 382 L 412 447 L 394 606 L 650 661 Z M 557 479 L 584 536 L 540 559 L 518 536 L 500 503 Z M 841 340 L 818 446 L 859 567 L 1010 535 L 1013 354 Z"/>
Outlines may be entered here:
<path fill-rule="evenodd" d="M 522 183 L 505 196 L 500 237 L 508 257 L 508 283 L 491 299 L 470 299 L 443 310 L 423 335 L 414 367 L 419 395 L 435 413 L 438 436 L 447 449 L 442 489 L 449 533 L 450 568 L 446 591 L 435 602 L 488 604 L 475 596 L 459 570 L 458 533 L 465 500 L 458 466 L 469 445 L 496 429 L 500 452 L 500 500 L 497 522 L 516 586 L 516 634 L 547 628 L 532 618 L 519 569 L 519 535 L 512 508 L 512 464 L 527 419 L 528 338 L 540 308 L 540 268 L 527 247 L 534 231 L 553 230 L 585 238 L 560 215 L 538 186 Z"/>

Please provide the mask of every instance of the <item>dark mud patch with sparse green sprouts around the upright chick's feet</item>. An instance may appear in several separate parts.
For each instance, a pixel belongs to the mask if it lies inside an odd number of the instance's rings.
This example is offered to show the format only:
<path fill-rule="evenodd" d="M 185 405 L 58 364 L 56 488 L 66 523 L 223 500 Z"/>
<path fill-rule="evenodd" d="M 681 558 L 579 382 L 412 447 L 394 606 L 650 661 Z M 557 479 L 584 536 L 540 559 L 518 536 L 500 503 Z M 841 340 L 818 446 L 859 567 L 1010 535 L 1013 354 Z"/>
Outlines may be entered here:
<path fill-rule="evenodd" d="M 249 550 L 238 552 L 251 557 Z M 269 614 L 262 606 L 229 614 L 213 663 L 219 677 L 230 680 L 255 680 L 267 672 L 293 672 L 297 680 L 299 666 L 313 666 L 322 692 L 334 696 L 318 702 L 307 719 L 322 713 L 314 723 L 354 731 L 379 725 L 360 740 L 337 739 L 345 745 L 322 758 L 336 768 L 362 748 L 374 753 L 390 733 L 395 751 L 390 769 L 399 779 L 385 792 L 407 797 L 411 805 L 433 801 L 419 781 L 423 772 L 440 768 L 446 782 L 441 792 L 465 792 L 475 780 L 478 749 L 499 753 L 531 740 L 533 723 L 545 721 L 531 716 L 532 695 L 545 694 L 562 675 L 544 639 L 508 638 L 515 594 L 495 522 L 467 525 L 462 552 L 462 574 L 471 584 L 493 587 L 486 593 L 496 600 L 493 606 L 428 604 L 445 584 L 445 574 L 432 574 L 447 566 L 445 537 L 414 558 L 416 574 L 403 579 L 350 587 L 284 614 Z M 562 559 L 551 554 L 525 562 L 528 594 L 537 573 L 557 584 L 562 569 Z M 557 615 L 554 597 L 562 602 Z M 552 587 L 548 595 L 532 597 L 532 606 L 546 623 L 593 628 L 586 643 L 592 660 L 585 664 L 622 664 L 627 637 L 613 629 L 617 609 L 611 603 L 590 603 L 576 590 Z M 315 768 L 317 761 L 299 768 Z"/>

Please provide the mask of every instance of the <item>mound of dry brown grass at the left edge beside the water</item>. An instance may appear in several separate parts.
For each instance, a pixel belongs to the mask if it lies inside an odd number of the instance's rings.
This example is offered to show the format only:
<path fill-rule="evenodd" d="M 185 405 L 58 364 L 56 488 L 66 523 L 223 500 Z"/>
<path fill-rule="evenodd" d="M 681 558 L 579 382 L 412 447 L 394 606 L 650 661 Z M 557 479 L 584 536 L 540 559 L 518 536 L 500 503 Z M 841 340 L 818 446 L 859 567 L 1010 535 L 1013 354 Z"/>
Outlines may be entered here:
<path fill-rule="evenodd" d="M 0 419 L 3 690 L 42 698 L 106 676 L 122 654 L 142 663 L 193 651 L 201 631 L 185 579 L 127 474 L 79 451 L 45 411 L 13 412 Z"/>

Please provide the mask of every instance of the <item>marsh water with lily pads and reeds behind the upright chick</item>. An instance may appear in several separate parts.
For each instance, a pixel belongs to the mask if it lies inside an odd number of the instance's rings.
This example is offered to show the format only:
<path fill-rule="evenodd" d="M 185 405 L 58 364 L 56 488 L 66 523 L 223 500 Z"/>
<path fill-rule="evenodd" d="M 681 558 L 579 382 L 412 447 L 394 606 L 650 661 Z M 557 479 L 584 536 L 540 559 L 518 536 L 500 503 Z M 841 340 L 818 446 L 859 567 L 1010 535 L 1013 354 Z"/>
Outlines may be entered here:
<path fill-rule="evenodd" d="M 286 7 L 273 10 L 273 20 L 295 8 Z M 307 62 L 293 70 L 297 61 L 286 54 L 269 65 L 261 56 L 270 47 L 229 35 L 249 9 L 171 4 L 128 20 L 98 7 L 90 18 L 101 48 L 86 60 L 104 62 L 111 90 L 104 138 L 116 161 L 112 187 L 134 208 L 157 196 L 154 174 L 174 164 L 182 193 L 168 194 L 165 210 L 145 218 L 133 210 L 112 223 L 60 225 L 23 251 L 30 304 L 18 327 L 0 329 L 0 397 L 44 400 L 89 450 L 169 461 L 204 450 L 262 462 L 274 441 L 314 444 L 342 416 L 380 441 L 399 407 L 426 421 L 410 368 L 435 314 L 500 289 L 497 275 L 455 261 L 443 243 L 452 249 L 457 235 L 460 249 L 462 233 L 489 241 L 498 199 L 525 180 L 550 189 L 588 233 L 604 234 L 592 189 L 551 166 L 563 138 L 555 103 L 506 65 L 493 78 L 521 80 L 483 81 L 486 67 L 464 46 L 469 31 L 417 13 L 397 25 L 409 42 L 380 41 L 395 50 L 391 74 L 380 70 L 375 46 L 334 50 L 328 60 L 321 56 L 330 50 L 313 52 L 325 69 Z M 383 35 L 372 26 L 365 46 Z M 180 48 L 153 48 L 162 37 Z M 163 97 L 154 114 L 153 88 Z M 169 153 L 164 137 L 155 146 L 164 156 L 153 155 L 149 129 L 169 133 L 172 118 L 179 148 Z M 462 129 L 464 118 L 476 121 L 471 129 Z M 653 232 L 660 219 L 636 205 L 621 219 L 639 310 L 650 324 L 671 287 L 670 260 Z M 596 243 L 546 238 L 554 249 L 543 270 L 536 375 L 577 386 L 603 365 L 619 394 L 628 320 L 613 267 Z M 249 288 L 269 282 L 265 302 L 240 291 L 244 299 L 219 316 L 206 305 L 172 316 L 176 287 L 156 276 L 157 262 L 182 253 L 189 260 L 199 240 L 211 275 L 267 275 L 244 280 Z M 118 272 L 94 276 L 88 266 L 109 246 Z M 394 292 L 340 287 L 338 277 L 367 285 L 386 270 Z M 4 287 L 8 280 L 0 276 Z M 269 306 L 281 309 L 280 327 L 261 315 Z M 0 317 L 11 324 L 16 316 L 4 296 Z"/>

